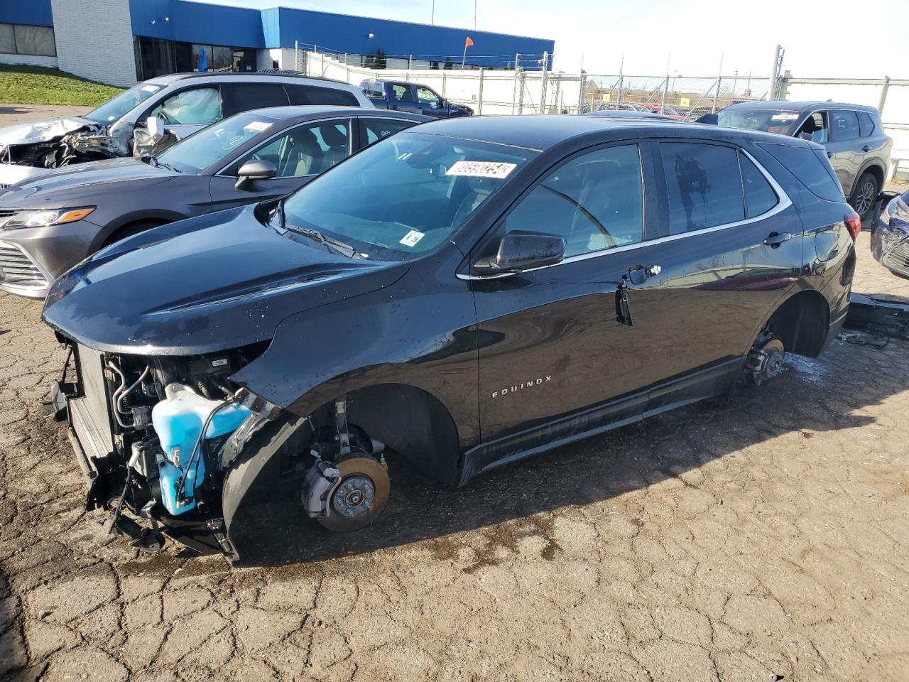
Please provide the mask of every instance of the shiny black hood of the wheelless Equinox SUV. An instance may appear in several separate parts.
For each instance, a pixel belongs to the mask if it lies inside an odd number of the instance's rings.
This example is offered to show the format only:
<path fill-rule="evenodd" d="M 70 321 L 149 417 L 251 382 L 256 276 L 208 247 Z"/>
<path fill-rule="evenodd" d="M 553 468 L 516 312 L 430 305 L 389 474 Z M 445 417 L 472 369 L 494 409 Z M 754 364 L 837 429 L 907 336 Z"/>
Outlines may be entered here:
<path fill-rule="evenodd" d="M 99 251 L 55 282 L 43 319 L 100 351 L 197 355 L 269 340 L 286 316 L 389 286 L 407 269 L 278 235 L 245 206 Z"/>

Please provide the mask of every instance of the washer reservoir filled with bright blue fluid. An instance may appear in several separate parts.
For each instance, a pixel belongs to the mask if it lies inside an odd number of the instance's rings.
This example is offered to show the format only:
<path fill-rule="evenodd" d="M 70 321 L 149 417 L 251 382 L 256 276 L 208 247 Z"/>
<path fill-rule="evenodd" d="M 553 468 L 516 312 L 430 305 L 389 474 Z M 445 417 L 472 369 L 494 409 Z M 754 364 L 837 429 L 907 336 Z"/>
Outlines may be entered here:
<path fill-rule="evenodd" d="M 192 466 L 189 460 L 205 419 L 221 402 L 200 396 L 189 386 L 169 384 L 165 386 L 165 399 L 152 407 L 152 426 L 164 451 L 164 456 L 158 458 L 161 500 L 174 516 L 195 508 L 195 489 L 205 480 L 205 458 L 199 452 Z M 205 438 L 235 431 L 250 412 L 248 407 L 236 403 L 222 407 L 212 417 Z M 184 474 L 184 497 L 193 499 L 184 506 L 177 506 L 177 482 Z"/>

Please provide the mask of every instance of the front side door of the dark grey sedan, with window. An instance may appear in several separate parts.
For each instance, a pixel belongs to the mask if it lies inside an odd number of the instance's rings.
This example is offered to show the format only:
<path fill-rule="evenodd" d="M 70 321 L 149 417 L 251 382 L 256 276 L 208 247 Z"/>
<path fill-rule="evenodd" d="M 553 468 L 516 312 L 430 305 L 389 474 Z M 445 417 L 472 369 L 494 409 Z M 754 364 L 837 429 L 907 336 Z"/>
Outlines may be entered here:
<path fill-rule="evenodd" d="M 345 117 L 307 122 L 272 135 L 212 176 L 212 210 L 257 203 L 299 189 L 351 154 L 351 131 L 351 119 Z M 270 161 L 277 173 L 237 188 L 240 166 L 253 160 Z"/>

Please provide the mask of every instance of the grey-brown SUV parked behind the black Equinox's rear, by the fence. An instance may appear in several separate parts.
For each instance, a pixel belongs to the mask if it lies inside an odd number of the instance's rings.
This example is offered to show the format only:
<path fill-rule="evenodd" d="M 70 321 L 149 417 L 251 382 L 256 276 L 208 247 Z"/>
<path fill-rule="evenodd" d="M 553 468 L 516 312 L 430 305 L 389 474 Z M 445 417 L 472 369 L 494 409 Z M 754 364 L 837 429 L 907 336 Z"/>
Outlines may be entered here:
<path fill-rule="evenodd" d="M 894 145 L 884 134 L 874 107 L 843 102 L 748 102 L 717 112 L 716 124 L 802 137 L 824 145 L 849 204 L 863 220 L 871 216 L 884 188 Z"/>

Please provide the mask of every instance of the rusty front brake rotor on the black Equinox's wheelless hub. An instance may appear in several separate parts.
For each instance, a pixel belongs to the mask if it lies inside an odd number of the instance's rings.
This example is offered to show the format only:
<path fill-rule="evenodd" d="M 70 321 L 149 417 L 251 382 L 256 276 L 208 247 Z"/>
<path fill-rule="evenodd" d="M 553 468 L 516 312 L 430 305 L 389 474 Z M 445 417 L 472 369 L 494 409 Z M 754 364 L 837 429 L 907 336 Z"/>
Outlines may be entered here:
<path fill-rule="evenodd" d="M 391 482 L 387 468 L 375 457 L 351 456 L 334 462 L 341 481 L 327 498 L 327 514 L 317 521 L 335 531 L 356 530 L 379 515 Z"/>

